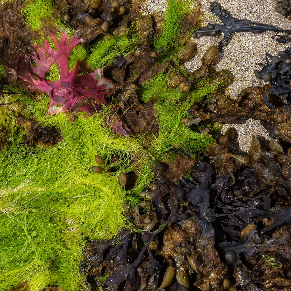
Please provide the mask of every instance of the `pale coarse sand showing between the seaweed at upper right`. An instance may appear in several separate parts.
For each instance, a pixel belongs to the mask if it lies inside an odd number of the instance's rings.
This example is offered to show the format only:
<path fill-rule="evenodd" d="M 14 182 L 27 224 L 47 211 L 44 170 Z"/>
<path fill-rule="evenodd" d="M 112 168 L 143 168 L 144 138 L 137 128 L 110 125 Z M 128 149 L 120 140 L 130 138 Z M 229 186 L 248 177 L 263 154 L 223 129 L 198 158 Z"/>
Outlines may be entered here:
<path fill-rule="evenodd" d="M 145 12 L 152 13 L 159 11 L 163 13 L 166 9 L 166 0 L 156 1 L 149 0 L 145 3 Z M 197 1 L 193 1 L 195 5 Z M 210 1 L 201 0 L 203 15 L 203 26 L 208 23 L 222 24 L 219 18 L 210 12 Z M 270 24 L 279 28 L 291 28 L 291 21 L 288 18 L 276 13 L 276 1 L 274 0 L 221 0 L 219 1 L 223 9 L 237 19 L 249 19 L 254 22 Z M 265 63 L 265 54 L 277 55 L 279 51 L 285 50 L 288 45 L 279 44 L 272 40 L 274 32 L 269 31 L 260 34 L 240 32 L 235 33 L 230 40 L 229 45 L 223 48 L 219 61 L 216 64 L 216 70 L 229 69 L 235 81 L 226 91 L 226 94 L 236 99 L 242 89 L 250 86 L 262 86 L 264 82 L 258 80 L 254 73 L 254 69 L 260 69 L 257 63 Z M 185 63 L 184 68 L 188 71 L 194 71 L 201 65 L 201 57 L 206 50 L 212 45 L 218 45 L 223 39 L 223 35 L 217 37 L 204 36 L 196 40 L 198 53 L 197 55 Z M 247 152 L 251 144 L 251 137 L 255 135 L 263 139 L 269 139 L 267 130 L 265 130 L 259 121 L 249 120 L 243 125 L 224 125 L 222 133 L 229 127 L 235 127 L 238 133 L 237 146 L 235 150 Z"/>

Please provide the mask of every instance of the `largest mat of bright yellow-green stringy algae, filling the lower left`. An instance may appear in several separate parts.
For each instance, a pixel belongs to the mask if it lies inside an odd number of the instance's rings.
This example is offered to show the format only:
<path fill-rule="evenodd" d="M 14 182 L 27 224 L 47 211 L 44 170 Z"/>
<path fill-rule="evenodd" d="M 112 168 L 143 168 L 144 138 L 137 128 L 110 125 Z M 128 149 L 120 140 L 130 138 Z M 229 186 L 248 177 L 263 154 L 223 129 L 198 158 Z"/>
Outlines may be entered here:
<path fill-rule="evenodd" d="M 133 137 L 118 138 L 107 128 L 109 111 L 86 119 L 79 114 L 72 123 L 63 114 L 46 115 L 48 96 L 22 102 L 43 126 L 59 127 L 63 141 L 32 148 L 12 131 L 9 146 L 0 151 L 0 286 L 9 290 L 28 280 L 30 290 L 80 290 L 84 237 L 108 239 L 125 226 L 126 191 L 118 175 L 132 170 L 130 157 L 142 148 Z M 7 118 L 1 115 L 0 124 L 13 123 L 12 114 Z M 120 157 L 111 164 L 118 171 L 93 173 L 95 154 L 107 163 Z"/>

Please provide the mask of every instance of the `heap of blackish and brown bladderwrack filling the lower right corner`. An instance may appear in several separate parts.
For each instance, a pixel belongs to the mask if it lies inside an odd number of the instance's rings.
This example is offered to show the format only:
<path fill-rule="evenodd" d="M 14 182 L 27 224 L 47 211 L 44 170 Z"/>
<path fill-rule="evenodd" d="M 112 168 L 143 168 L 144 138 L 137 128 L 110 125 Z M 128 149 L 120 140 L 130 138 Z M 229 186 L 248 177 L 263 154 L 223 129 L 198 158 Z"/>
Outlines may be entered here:
<path fill-rule="evenodd" d="M 131 230 L 88 242 L 89 288 L 107 272 L 102 290 L 289 290 L 290 153 L 253 136 L 249 155 L 234 155 L 233 138 L 229 129 L 177 184 L 155 166 L 144 202 L 124 205 Z"/>

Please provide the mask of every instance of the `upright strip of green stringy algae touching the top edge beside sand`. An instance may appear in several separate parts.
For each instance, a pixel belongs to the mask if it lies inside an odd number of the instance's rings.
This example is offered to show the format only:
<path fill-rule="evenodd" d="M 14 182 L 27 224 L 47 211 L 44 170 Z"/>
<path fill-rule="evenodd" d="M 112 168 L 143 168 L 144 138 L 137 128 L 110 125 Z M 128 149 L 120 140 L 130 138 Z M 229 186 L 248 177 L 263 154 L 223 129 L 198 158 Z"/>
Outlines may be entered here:
<path fill-rule="evenodd" d="M 189 0 L 169 0 L 166 12 L 163 15 L 162 28 L 155 38 L 154 47 L 160 49 L 164 46 L 165 51 L 171 51 L 177 45 L 179 26 L 183 17 L 191 10 Z"/>

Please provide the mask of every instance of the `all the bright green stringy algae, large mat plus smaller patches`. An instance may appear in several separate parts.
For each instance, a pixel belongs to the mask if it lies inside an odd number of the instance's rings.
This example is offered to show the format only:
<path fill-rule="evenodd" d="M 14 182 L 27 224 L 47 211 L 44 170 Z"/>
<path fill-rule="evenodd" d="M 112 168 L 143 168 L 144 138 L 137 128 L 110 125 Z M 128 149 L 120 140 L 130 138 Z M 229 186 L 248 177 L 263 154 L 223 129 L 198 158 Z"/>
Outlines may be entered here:
<path fill-rule="evenodd" d="M 177 5 L 179 13 L 175 14 Z M 169 1 L 155 48 L 164 45 L 170 51 L 178 49 L 176 24 L 186 13 L 186 8 L 180 9 L 183 5 L 188 2 Z M 72 29 L 61 19 L 51 17 L 52 11 L 52 1 L 32 0 L 22 14 L 26 24 L 39 33 L 43 23 L 48 23 L 72 36 Z M 173 26 L 173 19 L 177 27 Z M 138 31 L 132 28 L 124 37 L 98 38 L 87 49 L 78 45 L 70 55 L 68 67 L 72 69 L 83 58 L 92 70 L 110 65 L 119 54 L 130 53 L 138 39 Z M 168 86 L 169 75 L 170 72 L 160 73 L 137 91 L 141 100 L 155 100 L 158 136 L 120 137 L 113 133 L 106 122 L 110 106 L 87 118 L 79 113 L 71 122 L 63 113 L 47 116 L 47 95 L 11 95 L 0 100 L 3 103 L 17 99 L 13 105 L 0 106 L 0 291 L 24 281 L 33 291 L 52 285 L 65 291 L 80 290 L 85 278 L 79 272 L 85 238 L 109 239 L 126 227 L 123 203 L 134 206 L 139 202 L 138 194 L 153 178 L 150 166 L 161 160 L 165 151 L 190 149 L 194 156 L 213 141 L 186 127 L 182 119 L 193 102 L 217 91 L 218 85 L 210 86 L 209 80 L 204 79 L 194 91 L 183 93 Z M 59 78 L 55 64 L 46 78 Z M 19 115 L 33 118 L 42 127 L 57 127 L 63 140 L 44 148 L 24 143 L 26 127 L 19 125 Z M 91 171 L 96 154 L 106 160 L 102 174 Z M 116 171 L 111 172 L 111 167 Z M 139 173 L 137 182 L 132 191 L 126 191 L 118 176 L 133 170 Z"/>

